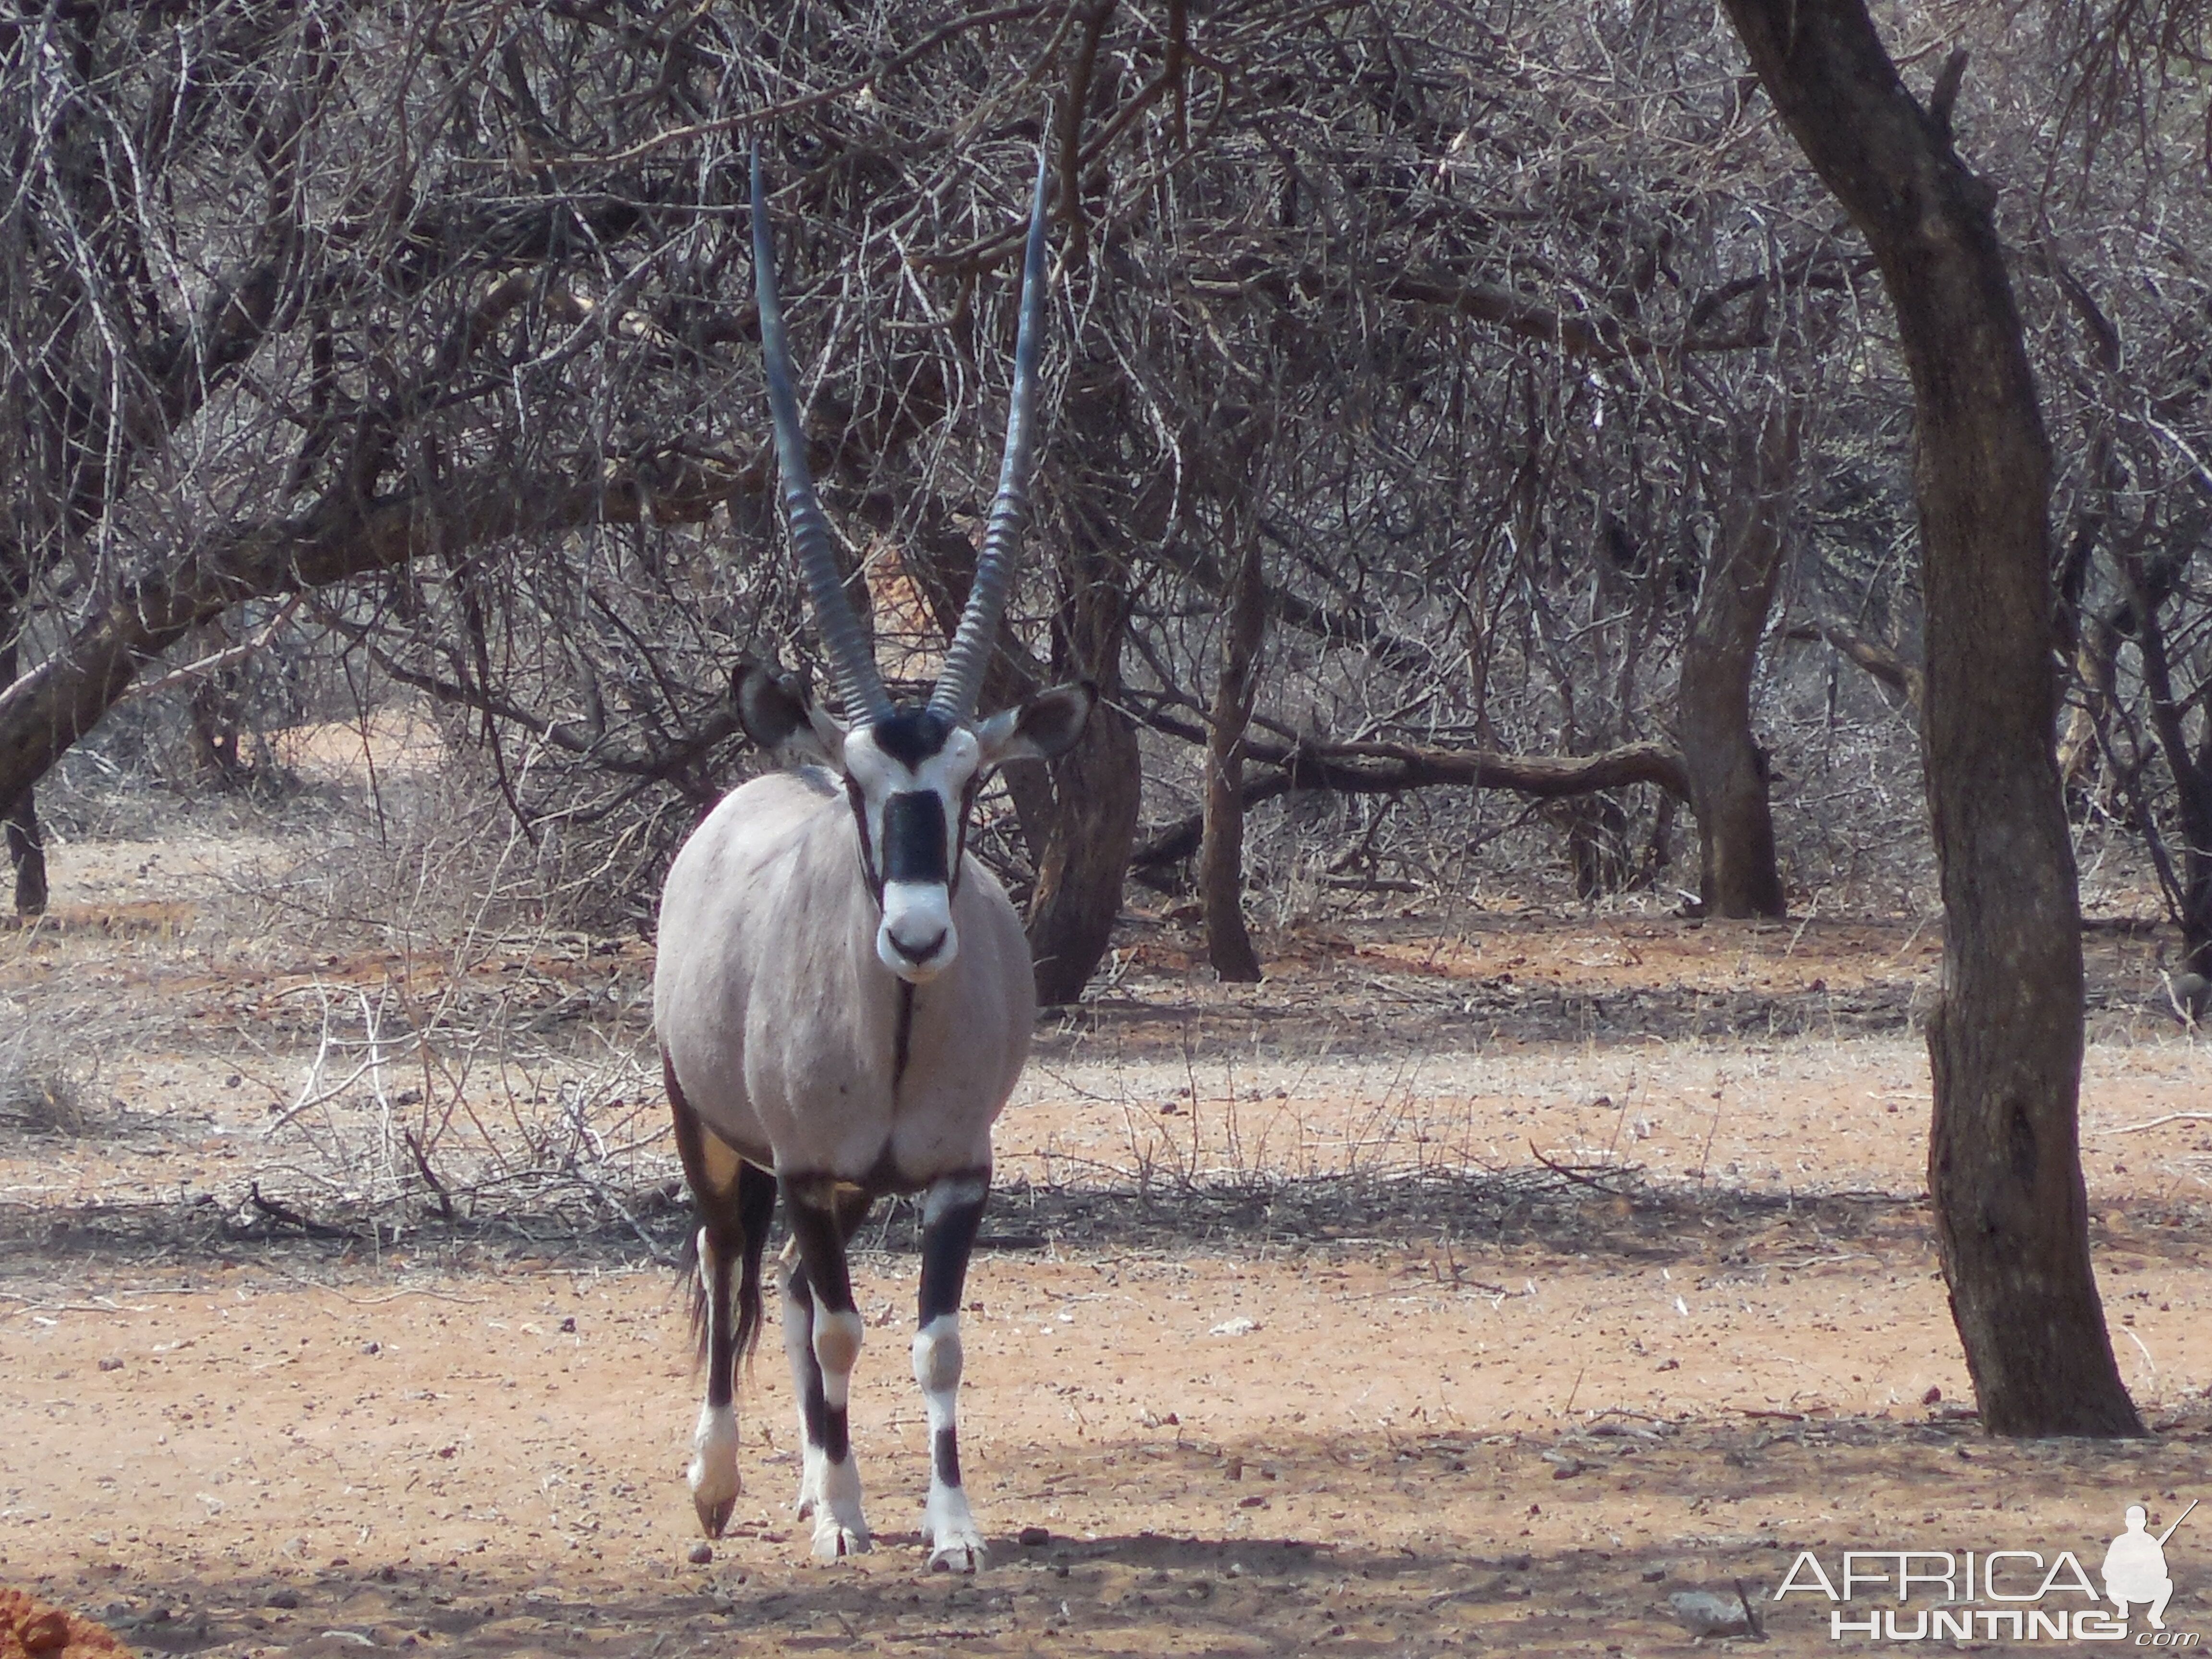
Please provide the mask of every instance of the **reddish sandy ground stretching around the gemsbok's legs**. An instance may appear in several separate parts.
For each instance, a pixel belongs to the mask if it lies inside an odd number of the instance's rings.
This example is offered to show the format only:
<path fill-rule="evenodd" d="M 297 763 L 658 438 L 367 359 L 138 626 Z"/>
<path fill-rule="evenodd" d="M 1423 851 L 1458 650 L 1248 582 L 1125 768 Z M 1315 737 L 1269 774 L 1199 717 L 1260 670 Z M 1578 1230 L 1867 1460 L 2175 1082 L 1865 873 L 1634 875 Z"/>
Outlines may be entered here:
<path fill-rule="evenodd" d="M 2090 938 L 2084 1079 L 2157 1433 L 2020 1444 L 1973 1422 L 1922 1199 L 1931 929 L 1407 916 L 1274 938 L 1256 989 L 1135 929 L 1002 1124 L 962 1402 L 993 1564 L 951 1579 L 905 1212 L 856 1274 L 876 1553 L 805 1557 L 770 1334 L 692 1559 L 644 945 L 334 947 L 270 925 L 281 841 L 66 854 L 0 938 L 0 1584 L 144 1652 L 1659 1655 L 1739 1588 L 1829 1652 L 1887 1646 L 1838 1606 L 1944 1604 L 1772 1599 L 1803 1551 L 2031 1551 L 2033 1590 L 2212 1498 L 2212 1124 L 2137 1128 L 2208 1102 L 2157 933 Z M 2168 1562 L 2170 1630 L 2212 1630 L 2212 1509 Z"/>

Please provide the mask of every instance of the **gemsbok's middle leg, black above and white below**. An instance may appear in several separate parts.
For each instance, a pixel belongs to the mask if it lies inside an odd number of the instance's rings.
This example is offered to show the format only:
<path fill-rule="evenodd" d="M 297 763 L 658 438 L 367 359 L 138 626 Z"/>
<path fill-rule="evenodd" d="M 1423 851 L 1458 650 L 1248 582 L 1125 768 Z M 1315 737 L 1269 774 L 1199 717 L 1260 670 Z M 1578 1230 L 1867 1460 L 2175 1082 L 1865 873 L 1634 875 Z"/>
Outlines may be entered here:
<path fill-rule="evenodd" d="M 834 1562 L 869 1548 L 847 1420 L 860 1312 L 845 1270 L 845 1243 L 867 1217 L 867 1194 L 838 1192 L 825 1177 L 796 1179 L 783 1183 L 783 1208 L 799 1254 L 783 1279 L 783 1352 L 805 1436 L 799 1513 L 814 1517 L 814 1559 Z"/>

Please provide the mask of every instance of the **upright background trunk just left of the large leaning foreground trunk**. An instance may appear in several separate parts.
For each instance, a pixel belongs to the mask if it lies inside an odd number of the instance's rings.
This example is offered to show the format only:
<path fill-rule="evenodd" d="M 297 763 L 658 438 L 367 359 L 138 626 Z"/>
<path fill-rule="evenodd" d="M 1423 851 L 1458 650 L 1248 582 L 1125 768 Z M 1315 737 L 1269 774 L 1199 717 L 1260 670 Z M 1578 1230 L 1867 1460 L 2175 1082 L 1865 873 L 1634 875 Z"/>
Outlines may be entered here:
<path fill-rule="evenodd" d="M 1728 513 L 1681 655 L 1681 759 L 1690 768 L 1708 916 L 1787 911 L 1774 863 L 1767 757 L 1752 739 L 1752 670 L 1783 568 L 1796 453 L 1794 398 L 1767 411 L 1756 438 L 1736 434 Z"/>

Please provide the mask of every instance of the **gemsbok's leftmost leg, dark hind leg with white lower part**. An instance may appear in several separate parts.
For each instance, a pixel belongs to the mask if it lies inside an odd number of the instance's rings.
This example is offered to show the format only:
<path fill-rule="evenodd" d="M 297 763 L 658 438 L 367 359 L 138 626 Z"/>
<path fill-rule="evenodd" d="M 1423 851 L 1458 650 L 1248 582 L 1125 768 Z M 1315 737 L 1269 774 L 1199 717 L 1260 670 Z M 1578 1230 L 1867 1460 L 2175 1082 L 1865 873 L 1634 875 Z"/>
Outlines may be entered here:
<path fill-rule="evenodd" d="M 721 1537 L 743 1491 L 737 1473 L 737 1360 L 761 1329 L 761 1248 L 776 1212 L 776 1177 L 737 1157 L 684 1104 L 670 1077 L 677 1150 L 699 1212 L 692 1314 L 706 1356 L 706 1400 L 692 1429 L 690 1491 L 699 1526 Z"/>

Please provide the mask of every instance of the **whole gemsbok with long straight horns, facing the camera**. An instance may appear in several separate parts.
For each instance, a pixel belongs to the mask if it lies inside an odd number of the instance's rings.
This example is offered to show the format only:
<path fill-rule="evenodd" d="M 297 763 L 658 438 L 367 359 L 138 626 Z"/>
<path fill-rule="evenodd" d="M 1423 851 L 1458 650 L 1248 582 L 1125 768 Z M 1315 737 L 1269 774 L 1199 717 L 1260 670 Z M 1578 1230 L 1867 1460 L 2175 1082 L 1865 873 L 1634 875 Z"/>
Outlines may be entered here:
<path fill-rule="evenodd" d="M 745 732 L 814 765 L 723 799 L 684 843 L 661 894 L 653 1020 L 699 1217 L 706 1352 L 690 1491 L 708 1537 L 719 1537 L 739 1493 L 734 1367 L 759 1336 L 761 1248 L 781 1192 L 792 1232 L 783 1347 L 805 1436 L 799 1513 L 814 1517 L 818 1559 L 869 1546 L 847 1431 L 860 1314 L 845 1248 L 878 1197 L 920 1192 L 925 1542 L 931 1566 L 971 1573 L 984 1540 L 960 1489 L 960 1296 L 991 1188 L 991 1124 L 1029 1057 L 1035 989 L 1022 922 L 967 854 L 967 821 L 991 768 L 1064 752 L 1093 703 L 1088 686 L 1060 686 L 975 719 L 1026 513 L 1044 170 L 1022 261 L 998 500 L 927 706 L 885 692 L 814 500 L 759 155 L 752 257 L 792 551 L 845 717 L 807 706 L 765 668 L 739 668 Z"/>

